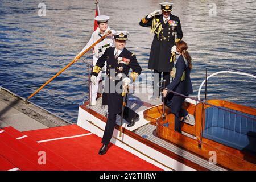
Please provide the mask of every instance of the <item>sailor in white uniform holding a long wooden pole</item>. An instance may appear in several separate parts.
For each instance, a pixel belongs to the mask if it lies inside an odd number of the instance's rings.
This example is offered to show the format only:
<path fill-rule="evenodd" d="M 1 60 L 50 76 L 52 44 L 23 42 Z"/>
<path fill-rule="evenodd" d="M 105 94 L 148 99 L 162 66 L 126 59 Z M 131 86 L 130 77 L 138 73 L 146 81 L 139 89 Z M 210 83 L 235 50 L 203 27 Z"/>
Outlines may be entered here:
<path fill-rule="evenodd" d="M 98 39 L 100 39 L 104 34 L 108 34 L 108 31 L 110 30 L 108 26 L 108 20 L 109 16 L 100 15 L 96 16 L 94 18 L 97 21 L 98 28 L 93 32 L 92 37 L 90 38 L 89 42 L 86 44 L 86 46 L 82 49 L 82 51 L 79 53 L 79 55 L 84 52 L 86 49 L 88 49 L 92 44 L 94 44 Z M 114 30 L 111 30 L 112 33 Z M 104 54 L 105 50 L 109 47 L 114 47 L 114 38 L 113 35 L 106 36 L 105 39 L 103 39 L 101 42 L 96 44 L 94 46 L 93 51 L 93 65 L 96 65 L 97 60 Z M 103 68 L 106 70 L 106 67 Z M 92 95 L 91 95 L 91 104 L 96 105 L 97 101 L 97 93 L 98 93 L 98 87 L 99 87 L 99 81 L 101 78 L 101 71 L 98 73 L 96 84 L 92 84 Z"/>

